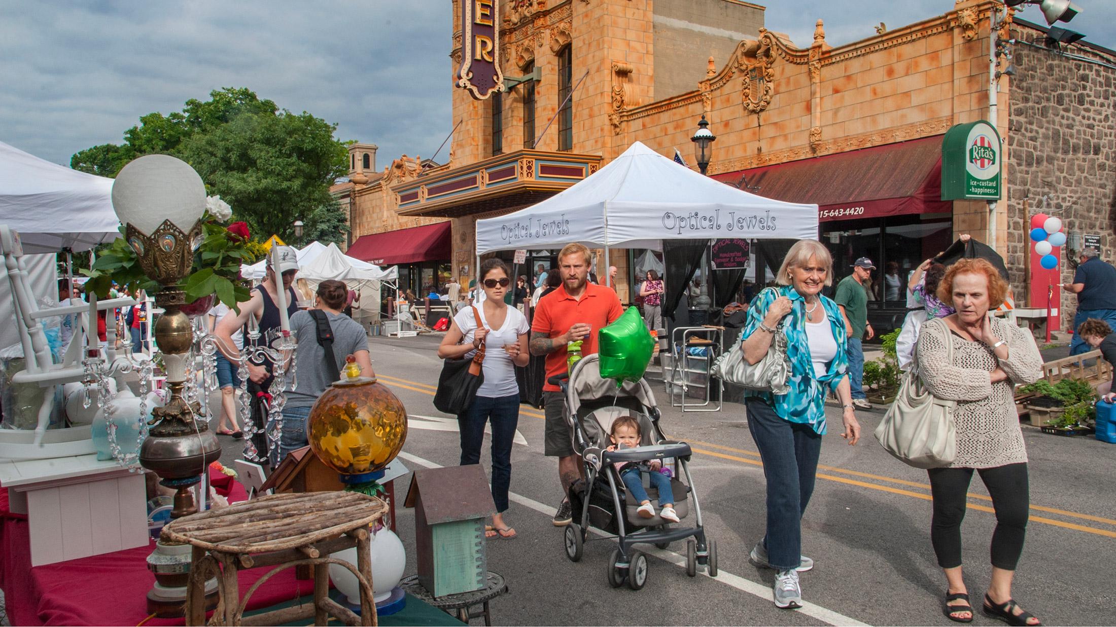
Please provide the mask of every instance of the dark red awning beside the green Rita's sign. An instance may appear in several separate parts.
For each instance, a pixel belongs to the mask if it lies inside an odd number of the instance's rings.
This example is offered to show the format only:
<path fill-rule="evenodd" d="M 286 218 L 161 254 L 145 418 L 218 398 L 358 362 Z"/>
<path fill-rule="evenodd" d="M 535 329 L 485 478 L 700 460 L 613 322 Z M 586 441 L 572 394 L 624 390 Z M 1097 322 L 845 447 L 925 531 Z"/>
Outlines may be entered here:
<path fill-rule="evenodd" d="M 748 192 L 818 205 L 818 219 L 850 220 L 906 213 L 947 213 L 942 200 L 942 136 L 767 165 L 714 176 Z"/>

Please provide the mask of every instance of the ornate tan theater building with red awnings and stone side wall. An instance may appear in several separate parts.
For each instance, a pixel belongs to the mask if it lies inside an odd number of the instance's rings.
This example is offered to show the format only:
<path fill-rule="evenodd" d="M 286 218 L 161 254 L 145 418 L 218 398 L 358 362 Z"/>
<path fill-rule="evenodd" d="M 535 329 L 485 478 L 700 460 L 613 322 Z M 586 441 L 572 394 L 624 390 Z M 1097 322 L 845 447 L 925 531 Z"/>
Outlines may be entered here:
<path fill-rule="evenodd" d="M 382 247 L 398 253 L 411 242 L 417 248 L 402 252 L 417 264 L 415 288 L 450 276 L 468 283 L 477 219 L 558 193 L 636 141 L 666 156 L 677 148 L 693 166 L 690 138 L 704 115 L 716 135 L 711 176 L 818 204 L 819 238 L 838 277 L 857 257 L 876 261 L 869 319 L 877 328 L 904 311 L 902 292 L 883 276 L 905 278 L 960 233 L 994 245 L 1017 302 L 1033 301 L 1030 214 L 1062 216 L 1083 238 L 1099 234 L 1105 259 L 1116 245 L 1116 54 L 1051 41 L 1000 2 L 942 4 L 941 15 L 835 46 L 820 20 L 812 40 L 793 42 L 764 22 L 763 7 L 739 0 L 501 1 L 507 90 L 483 100 L 453 91 L 460 125 L 449 163 L 404 156 L 376 172 L 375 146 L 352 148 L 349 181 L 334 187 L 349 210 L 352 252 L 378 262 Z M 460 11 L 455 1 L 451 71 L 461 61 Z M 943 135 L 982 119 L 1003 139 L 1001 197 L 943 201 Z M 756 242 L 754 280 L 769 276 L 781 250 Z M 556 252 L 531 252 L 529 268 L 549 266 Z M 610 255 L 625 301 L 644 252 Z M 1071 316 L 1071 300 L 1064 305 Z"/>

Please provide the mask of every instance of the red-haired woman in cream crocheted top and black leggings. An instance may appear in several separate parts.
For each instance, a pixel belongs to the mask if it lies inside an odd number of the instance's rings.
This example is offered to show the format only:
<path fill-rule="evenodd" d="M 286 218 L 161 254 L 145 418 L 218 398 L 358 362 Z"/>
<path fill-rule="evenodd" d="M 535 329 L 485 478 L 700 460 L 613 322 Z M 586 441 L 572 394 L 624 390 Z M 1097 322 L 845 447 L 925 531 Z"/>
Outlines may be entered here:
<path fill-rule="evenodd" d="M 930 539 L 937 566 L 945 572 L 945 616 L 973 619 L 961 571 L 961 521 L 965 515 L 973 472 L 992 498 L 992 580 L 984 595 L 987 614 L 1009 625 L 1041 625 L 1011 597 L 1011 581 L 1027 533 L 1027 447 L 1019 428 L 1014 385 L 1042 376 L 1042 357 L 1035 337 L 1011 322 L 990 317 L 1003 302 L 1008 283 L 983 259 L 962 259 L 945 270 L 937 298 L 955 310 L 927 320 L 918 335 L 915 360 L 926 389 L 936 398 L 956 401 L 953 422 L 956 457 L 949 466 L 930 469 L 934 513 Z"/>

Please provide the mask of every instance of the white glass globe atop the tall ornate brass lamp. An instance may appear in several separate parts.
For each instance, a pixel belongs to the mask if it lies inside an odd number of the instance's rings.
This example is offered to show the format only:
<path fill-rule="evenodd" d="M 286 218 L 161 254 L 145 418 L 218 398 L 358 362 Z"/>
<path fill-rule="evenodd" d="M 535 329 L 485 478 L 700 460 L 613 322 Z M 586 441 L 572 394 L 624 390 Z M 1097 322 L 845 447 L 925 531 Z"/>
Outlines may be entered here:
<path fill-rule="evenodd" d="M 144 155 L 116 175 L 113 209 L 121 222 L 145 235 L 164 220 L 189 232 L 205 211 L 205 183 L 180 158 Z"/>

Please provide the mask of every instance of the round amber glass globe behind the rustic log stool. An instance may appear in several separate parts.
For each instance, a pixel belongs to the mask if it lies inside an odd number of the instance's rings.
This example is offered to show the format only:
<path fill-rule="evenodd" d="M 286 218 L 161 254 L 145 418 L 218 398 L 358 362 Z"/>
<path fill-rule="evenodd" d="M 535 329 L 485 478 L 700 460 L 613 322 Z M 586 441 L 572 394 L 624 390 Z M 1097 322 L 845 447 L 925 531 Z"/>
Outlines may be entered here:
<path fill-rule="evenodd" d="M 341 474 L 376 472 L 403 448 L 407 411 L 375 378 L 343 378 L 310 409 L 307 438 L 314 454 Z"/>

